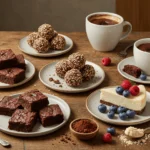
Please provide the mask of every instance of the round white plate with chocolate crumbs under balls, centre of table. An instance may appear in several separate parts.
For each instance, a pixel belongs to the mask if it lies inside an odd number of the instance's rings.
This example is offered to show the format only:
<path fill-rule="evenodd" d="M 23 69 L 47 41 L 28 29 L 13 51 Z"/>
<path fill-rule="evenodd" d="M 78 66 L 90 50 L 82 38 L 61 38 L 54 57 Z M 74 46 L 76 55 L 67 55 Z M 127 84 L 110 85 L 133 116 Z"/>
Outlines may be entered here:
<path fill-rule="evenodd" d="M 95 77 L 90 81 L 82 83 L 79 87 L 70 87 L 65 83 L 64 79 L 61 79 L 57 76 L 55 72 L 56 63 L 57 62 L 53 62 L 51 64 L 44 66 L 39 72 L 39 78 L 41 82 L 55 91 L 64 93 L 79 93 L 89 91 L 100 85 L 105 78 L 105 73 L 100 66 L 87 61 L 86 64 L 92 65 L 94 67 Z M 54 82 L 50 82 L 49 78 L 59 80 L 61 84 L 55 84 Z M 60 87 L 60 85 L 62 85 L 62 87 Z"/>

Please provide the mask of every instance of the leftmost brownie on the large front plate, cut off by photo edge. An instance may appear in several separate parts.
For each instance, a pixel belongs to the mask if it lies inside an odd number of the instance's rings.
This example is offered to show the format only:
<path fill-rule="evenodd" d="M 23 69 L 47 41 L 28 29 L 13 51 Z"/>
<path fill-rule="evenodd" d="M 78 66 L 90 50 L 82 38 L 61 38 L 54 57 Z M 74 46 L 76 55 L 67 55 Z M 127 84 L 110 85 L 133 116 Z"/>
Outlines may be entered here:
<path fill-rule="evenodd" d="M 19 98 L 4 96 L 0 101 L 0 115 L 11 116 L 18 108 L 21 108 Z"/>

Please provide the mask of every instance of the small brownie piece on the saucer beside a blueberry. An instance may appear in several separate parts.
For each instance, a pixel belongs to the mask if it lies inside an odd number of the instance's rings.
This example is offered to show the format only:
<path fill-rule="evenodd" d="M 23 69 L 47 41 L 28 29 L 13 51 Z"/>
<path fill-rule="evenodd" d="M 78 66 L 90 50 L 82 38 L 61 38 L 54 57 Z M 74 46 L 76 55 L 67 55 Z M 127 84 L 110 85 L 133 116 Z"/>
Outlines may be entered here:
<path fill-rule="evenodd" d="M 125 65 L 123 71 L 128 73 L 131 76 L 134 76 L 135 78 L 138 78 L 142 72 L 140 68 L 134 65 Z"/>

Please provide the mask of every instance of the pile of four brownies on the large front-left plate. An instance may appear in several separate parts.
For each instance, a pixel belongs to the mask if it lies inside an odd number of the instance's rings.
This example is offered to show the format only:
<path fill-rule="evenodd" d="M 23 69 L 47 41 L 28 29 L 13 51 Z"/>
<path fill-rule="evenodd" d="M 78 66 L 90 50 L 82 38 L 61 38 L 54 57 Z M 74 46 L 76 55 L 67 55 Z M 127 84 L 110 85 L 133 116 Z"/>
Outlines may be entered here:
<path fill-rule="evenodd" d="M 59 105 L 48 104 L 48 97 L 35 89 L 17 98 L 2 98 L 0 115 L 11 116 L 8 128 L 22 132 L 32 131 L 38 118 L 44 127 L 63 122 L 64 117 Z"/>

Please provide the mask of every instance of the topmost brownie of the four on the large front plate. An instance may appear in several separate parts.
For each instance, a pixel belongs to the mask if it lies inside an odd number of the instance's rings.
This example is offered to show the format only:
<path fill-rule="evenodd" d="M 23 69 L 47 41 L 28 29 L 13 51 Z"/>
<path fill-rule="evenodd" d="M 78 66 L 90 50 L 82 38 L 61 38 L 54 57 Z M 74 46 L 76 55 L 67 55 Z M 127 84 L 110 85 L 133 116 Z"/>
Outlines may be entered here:
<path fill-rule="evenodd" d="M 38 90 L 31 90 L 19 97 L 20 103 L 28 111 L 39 111 L 49 104 L 48 97 Z"/>

